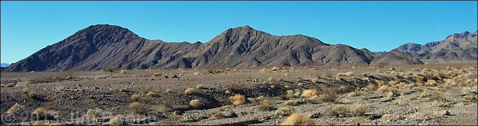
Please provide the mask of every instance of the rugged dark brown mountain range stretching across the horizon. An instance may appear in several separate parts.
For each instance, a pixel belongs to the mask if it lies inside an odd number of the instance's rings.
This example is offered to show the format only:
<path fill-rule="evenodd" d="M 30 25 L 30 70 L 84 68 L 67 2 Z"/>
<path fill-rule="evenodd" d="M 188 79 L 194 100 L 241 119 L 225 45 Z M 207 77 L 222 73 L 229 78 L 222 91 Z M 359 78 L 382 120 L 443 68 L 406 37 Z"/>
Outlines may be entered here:
<path fill-rule="evenodd" d="M 454 43 L 469 48 L 456 51 L 450 47 L 452 52 L 463 52 L 457 57 L 476 61 L 476 37 L 474 41 L 464 35 L 454 38 L 451 39 Z M 247 25 L 229 28 L 206 43 L 164 42 L 139 37 L 120 26 L 93 25 L 33 53 L 5 71 L 423 64 L 422 59 L 438 56 L 424 55 L 435 53 L 435 48 L 422 51 L 425 47 L 418 50 L 413 47 L 377 53 L 366 48 L 327 44 L 300 34 L 275 36 Z"/>

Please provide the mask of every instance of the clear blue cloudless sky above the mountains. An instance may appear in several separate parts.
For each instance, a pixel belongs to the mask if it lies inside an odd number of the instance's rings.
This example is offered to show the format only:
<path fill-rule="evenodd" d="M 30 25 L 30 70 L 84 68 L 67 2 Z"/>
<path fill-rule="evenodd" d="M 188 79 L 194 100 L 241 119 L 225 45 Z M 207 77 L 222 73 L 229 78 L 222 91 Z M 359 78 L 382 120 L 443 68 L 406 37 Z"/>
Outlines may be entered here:
<path fill-rule="evenodd" d="M 16 62 L 95 24 L 147 39 L 206 42 L 249 25 L 273 35 L 389 51 L 477 30 L 476 1 L 2 1 L 1 62 Z"/>

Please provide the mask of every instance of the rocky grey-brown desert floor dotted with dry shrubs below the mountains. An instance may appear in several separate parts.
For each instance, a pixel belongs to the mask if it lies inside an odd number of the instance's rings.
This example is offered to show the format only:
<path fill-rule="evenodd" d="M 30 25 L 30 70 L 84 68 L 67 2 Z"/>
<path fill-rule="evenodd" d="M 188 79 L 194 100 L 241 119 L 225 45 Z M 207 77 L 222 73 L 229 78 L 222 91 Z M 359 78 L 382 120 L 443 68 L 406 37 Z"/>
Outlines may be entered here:
<path fill-rule="evenodd" d="M 1 124 L 478 125 L 477 64 L 1 73 Z"/>

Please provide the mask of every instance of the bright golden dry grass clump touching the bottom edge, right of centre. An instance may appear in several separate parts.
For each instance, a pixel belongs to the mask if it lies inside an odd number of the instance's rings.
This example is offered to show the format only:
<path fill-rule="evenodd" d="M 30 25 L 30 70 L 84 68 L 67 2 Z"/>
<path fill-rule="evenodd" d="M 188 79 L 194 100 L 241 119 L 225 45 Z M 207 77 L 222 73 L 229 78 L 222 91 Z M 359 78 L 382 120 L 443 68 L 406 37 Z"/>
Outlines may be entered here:
<path fill-rule="evenodd" d="M 281 125 L 316 125 L 307 115 L 293 113 Z"/>

